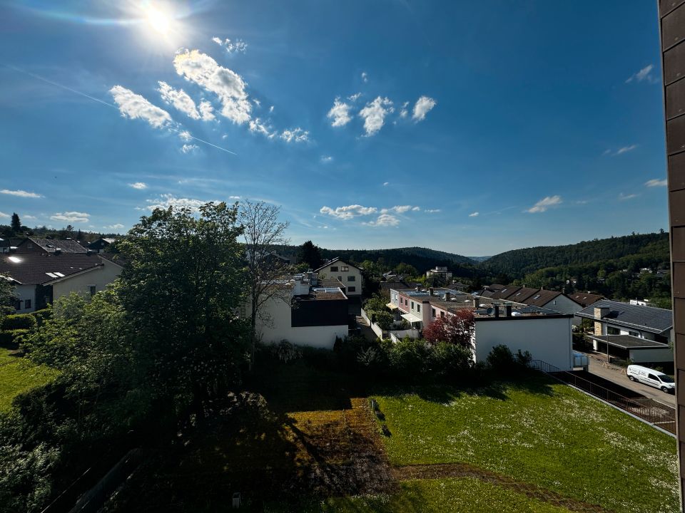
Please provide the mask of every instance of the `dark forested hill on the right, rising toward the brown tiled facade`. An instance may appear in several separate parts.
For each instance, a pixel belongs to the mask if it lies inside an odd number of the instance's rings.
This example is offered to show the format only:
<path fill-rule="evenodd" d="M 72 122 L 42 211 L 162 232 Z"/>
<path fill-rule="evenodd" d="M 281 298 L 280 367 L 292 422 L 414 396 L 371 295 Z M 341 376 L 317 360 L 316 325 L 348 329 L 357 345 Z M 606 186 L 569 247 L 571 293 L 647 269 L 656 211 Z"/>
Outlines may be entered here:
<path fill-rule="evenodd" d="M 567 246 L 514 249 L 494 255 L 480 265 L 488 274 L 504 273 L 512 278 L 520 278 L 546 267 L 590 264 L 645 252 L 654 254 L 655 259 L 660 261 L 669 261 L 669 234 L 635 234 Z"/>

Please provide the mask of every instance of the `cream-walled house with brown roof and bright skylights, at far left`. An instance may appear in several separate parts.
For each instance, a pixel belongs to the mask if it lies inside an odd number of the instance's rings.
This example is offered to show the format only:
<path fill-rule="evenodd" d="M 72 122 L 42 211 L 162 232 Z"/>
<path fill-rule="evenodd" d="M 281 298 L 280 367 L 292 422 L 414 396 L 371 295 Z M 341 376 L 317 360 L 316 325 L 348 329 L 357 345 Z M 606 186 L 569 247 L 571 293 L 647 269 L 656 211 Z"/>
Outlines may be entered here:
<path fill-rule="evenodd" d="M 93 295 L 121 273 L 122 264 L 97 254 L 18 253 L 0 255 L 0 274 L 15 286 L 16 310 L 45 308 L 71 292 Z"/>

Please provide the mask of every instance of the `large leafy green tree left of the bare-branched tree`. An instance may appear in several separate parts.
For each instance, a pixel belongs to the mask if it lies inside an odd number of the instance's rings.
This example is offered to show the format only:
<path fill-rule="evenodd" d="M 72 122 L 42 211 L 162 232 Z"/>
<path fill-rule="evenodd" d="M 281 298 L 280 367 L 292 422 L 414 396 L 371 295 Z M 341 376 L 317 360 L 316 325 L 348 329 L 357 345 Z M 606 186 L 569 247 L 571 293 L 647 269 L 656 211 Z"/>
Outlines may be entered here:
<path fill-rule="evenodd" d="M 163 398 L 199 405 L 239 379 L 245 281 L 236 205 L 155 209 L 118 244 L 133 358 Z M 185 398 L 185 399 L 184 399 Z"/>

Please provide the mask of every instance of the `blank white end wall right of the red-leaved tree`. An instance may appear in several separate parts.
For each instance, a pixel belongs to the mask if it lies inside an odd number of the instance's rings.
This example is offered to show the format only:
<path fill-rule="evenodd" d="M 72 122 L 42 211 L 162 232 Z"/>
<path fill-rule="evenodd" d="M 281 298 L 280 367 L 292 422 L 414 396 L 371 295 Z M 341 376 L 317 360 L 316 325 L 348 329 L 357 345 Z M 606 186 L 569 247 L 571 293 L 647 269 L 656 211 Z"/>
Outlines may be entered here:
<path fill-rule="evenodd" d="M 512 353 L 529 351 L 536 360 L 546 361 L 562 371 L 571 370 L 571 318 L 477 319 L 476 361 L 484 361 L 494 346 L 504 344 Z"/>

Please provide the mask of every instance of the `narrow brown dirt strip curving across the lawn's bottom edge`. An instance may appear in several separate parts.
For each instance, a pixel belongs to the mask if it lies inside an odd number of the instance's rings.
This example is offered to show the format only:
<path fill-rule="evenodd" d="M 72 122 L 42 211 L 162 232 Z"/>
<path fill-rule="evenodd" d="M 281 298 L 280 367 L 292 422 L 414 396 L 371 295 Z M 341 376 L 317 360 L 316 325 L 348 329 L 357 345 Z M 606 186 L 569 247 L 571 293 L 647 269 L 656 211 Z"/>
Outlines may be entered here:
<path fill-rule="evenodd" d="M 556 492 L 513 480 L 496 472 L 489 472 L 465 463 L 441 463 L 435 465 L 406 465 L 393 467 L 392 475 L 398 481 L 419 479 L 444 479 L 445 477 L 475 477 L 478 480 L 497 484 L 497 486 L 512 489 L 515 492 L 526 494 L 528 497 L 538 499 L 554 506 L 564 507 L 572 512 L 582 513 L 611 513 L 611 510 L 602 508 L 597 504 L 588 504 L 577 499 L 570 499 Z"/>

